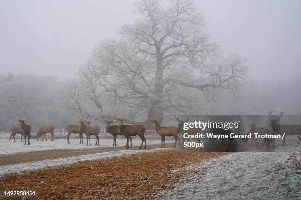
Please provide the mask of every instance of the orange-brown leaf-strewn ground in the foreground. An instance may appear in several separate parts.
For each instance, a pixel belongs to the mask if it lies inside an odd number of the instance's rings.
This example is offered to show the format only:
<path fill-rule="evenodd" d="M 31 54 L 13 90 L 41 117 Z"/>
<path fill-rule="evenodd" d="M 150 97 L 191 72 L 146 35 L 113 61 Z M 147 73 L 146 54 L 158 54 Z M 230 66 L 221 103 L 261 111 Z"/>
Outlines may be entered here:
<path fill-rule="evenodd" d="M 36 199 L 154 199 L 187 175 L 173 170 L 225 154 L 170 149 L 85 161 L 4 176 L 0 190 L 35 190 Z"/>

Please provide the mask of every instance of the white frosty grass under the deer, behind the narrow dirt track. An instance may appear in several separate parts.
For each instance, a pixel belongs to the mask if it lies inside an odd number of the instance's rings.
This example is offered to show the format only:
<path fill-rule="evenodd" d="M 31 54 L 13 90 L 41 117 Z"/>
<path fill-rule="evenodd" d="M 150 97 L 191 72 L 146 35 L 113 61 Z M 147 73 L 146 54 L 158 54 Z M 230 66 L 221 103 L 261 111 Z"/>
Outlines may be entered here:
<path fill-rule="evenodd" d="M 95 146 L 96 139 L 91 138 L 91 146 L 86 146 L 84 139 L 84 144 L 79 143 L 79 139 L 70 139 L 70 144 L 67 143 L 66 139 L 55 139 L 54 141 L 37 141 L 35 139 L 30 140 L 30 145 L 24 145 L 24 141 L 17 140 L 14 142 L 8 141 L 8 139 L 0 139 L 0 155 L 12 155 L 18 153 L 27 153 L 33 151 L 45 151 L 45 150 L 65 150 L 65 149 L 87 149 L 87 148 L 98 148 L 98 147 L 111 147 L 113 145 L 113 139 L 100 139 L 99 146 Z M 117 139 L 117 146 L 124 147 L 126 139 Z M 132 140 L 132 144 L 140 145 L 141 140 L 135 138 Z M 147 145 L 151 144 L 161 144 L 161 140 L 147 140 Z"/>

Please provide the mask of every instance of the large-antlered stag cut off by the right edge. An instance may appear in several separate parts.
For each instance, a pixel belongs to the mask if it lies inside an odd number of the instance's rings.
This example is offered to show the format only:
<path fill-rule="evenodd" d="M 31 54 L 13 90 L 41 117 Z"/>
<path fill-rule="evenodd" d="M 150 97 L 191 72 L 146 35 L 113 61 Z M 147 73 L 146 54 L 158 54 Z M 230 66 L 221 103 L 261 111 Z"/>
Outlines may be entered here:
<path fill-rule="evenodd" d="M 275 119 L 272 119 L 271 114 L 273 111 L 270 111 L 270 118 L 271 121 L 270 126 L 272 129 L 279 134 L 284 134 L 282 146 L 285 146 L 285 137 L 286 135 L 300 135 L 301 133 L 301 125 L 280 125 L 277 123 L 277 121 L 280 119 L 280 117 L 283 114 L 283 111 L 280 111 L 280 116 L 276 117 Z"/>

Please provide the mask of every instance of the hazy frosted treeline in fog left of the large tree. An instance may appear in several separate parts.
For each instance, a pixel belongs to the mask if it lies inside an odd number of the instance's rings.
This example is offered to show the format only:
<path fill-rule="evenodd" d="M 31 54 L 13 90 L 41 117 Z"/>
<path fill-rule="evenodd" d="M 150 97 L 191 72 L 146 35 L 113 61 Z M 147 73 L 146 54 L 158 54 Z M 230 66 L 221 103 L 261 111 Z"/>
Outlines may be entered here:
<path fill-rule="evenodd" d="M 44 125 L 62 129 L 69 123 L 62 106 L 60 81 L 55 76 L 0 75 L 0 131 L 17 125 L 21 115 L 29 115 L 27 123 L 34 132 Z"/>

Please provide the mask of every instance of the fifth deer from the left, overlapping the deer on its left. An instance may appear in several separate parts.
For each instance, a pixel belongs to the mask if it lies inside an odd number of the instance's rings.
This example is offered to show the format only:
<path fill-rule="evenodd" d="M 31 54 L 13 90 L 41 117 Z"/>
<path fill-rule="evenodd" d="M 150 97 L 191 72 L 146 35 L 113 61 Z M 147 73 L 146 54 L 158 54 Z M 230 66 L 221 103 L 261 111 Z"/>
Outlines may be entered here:
<path fill-rule="evenodd" d="M 89 137 L 89 142 L 90 142 L 90 146 L 91 146 L 91 135 L 95 135 L 96 136 L 96 143 L 95 145 L 99 145 L 99 132 L 100 132 L 100 128 L 97 125 L 90 125 L 91 123 L 91 118 L 90 121 L 84 121 L 83 118 L 81 118 L 79 120 L 79 130 L 81 133 L 85 133 L 87 135 L 87 145 L 88 146 L 88 137 Z M 98 144 L 97 144 L 98 142 Z"/>

